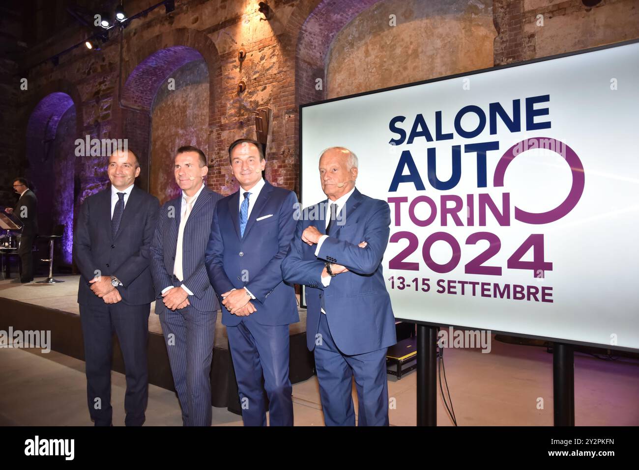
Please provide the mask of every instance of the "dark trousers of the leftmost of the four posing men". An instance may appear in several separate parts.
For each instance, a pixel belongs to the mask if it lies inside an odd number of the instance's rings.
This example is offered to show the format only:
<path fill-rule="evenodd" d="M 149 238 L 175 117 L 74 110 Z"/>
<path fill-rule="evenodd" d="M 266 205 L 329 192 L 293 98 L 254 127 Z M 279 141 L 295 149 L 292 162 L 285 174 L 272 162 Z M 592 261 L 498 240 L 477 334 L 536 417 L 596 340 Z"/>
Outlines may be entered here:
<path fill-rule="evenodd" d="M 96 426 L 112 424 L 111 357 L 113 333 L 118 335 L 127 377 L 124 407 L 127 426 L 144 423 L 148 402 L 148 363 L 151 304 L 126 305 L 122 301 L 99 307 L 80 305 L 80 321 L 86 361 L 86 394 L 89 414 Z"/>

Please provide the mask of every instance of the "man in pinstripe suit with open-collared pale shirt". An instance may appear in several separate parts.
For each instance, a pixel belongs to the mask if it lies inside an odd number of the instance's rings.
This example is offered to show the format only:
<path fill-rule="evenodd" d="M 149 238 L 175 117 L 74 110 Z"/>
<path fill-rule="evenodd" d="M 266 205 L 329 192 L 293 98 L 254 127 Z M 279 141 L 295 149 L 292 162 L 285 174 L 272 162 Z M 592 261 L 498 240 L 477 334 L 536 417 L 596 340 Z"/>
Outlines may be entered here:
<path fill-rule="evenodd" d="M 169 353 L 185 426 L 210 426 L 213 335 L 220 305 L 208 280 L 204 252 L 222 195 L 204 184 L 206 156 L 180 147 L 173 166 L 180 197 L 160 209 L 151 245 L 155 313 Z"/>

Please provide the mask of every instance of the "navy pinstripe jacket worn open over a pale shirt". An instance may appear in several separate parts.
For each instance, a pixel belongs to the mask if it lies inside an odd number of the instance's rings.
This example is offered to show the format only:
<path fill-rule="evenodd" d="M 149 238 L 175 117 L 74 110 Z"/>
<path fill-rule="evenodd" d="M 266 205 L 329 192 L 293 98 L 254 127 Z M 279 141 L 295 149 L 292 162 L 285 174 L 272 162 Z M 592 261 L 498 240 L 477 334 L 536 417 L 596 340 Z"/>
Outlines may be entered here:
<path fill-rule="evenodd" d="M 222 195 L 204 186 L 202 192 L 189 215 L 184 227 L 182 270 L 184 284 L 194 295 L 189 296 L 192 307 L 200 312 L 217 312 L 220 305 L 213 287 L 208 280 L 204 253 L 211 231 L 211 222 L 215 206 L 222 199 Z M 151 243 L 151 274 L 155 284 L 155 313 L 160 314 L 166 309 L 162 303 L 162 290 L 173 286 L 173 267 L 175 249 L 178 243 L 178 229 L 180 227 L 182 194 L 176 199 L 168 201 L 160 209 L 160 216 L 155 227 L 155 236 Z"/>

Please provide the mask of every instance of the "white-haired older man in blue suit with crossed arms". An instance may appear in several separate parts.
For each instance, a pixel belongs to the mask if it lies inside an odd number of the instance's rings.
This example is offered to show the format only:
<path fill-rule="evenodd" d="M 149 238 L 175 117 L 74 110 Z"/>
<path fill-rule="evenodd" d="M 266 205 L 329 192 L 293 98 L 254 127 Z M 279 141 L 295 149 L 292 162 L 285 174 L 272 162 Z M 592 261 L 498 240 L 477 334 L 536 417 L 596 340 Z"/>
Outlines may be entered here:
<path fill-rule="evenodd" d="M 327 426 L 355 425 L 353 376 L 358 424 L 389 424 L 386 351 L 397 340 L 381 259 L 390 208 L 355 188 L 357 165 L 343 147 L 321 154 L 319 179 L 328 200 L 304 209 L 282 262 L 284 280 L 307 286 L 306 338 Z"/>

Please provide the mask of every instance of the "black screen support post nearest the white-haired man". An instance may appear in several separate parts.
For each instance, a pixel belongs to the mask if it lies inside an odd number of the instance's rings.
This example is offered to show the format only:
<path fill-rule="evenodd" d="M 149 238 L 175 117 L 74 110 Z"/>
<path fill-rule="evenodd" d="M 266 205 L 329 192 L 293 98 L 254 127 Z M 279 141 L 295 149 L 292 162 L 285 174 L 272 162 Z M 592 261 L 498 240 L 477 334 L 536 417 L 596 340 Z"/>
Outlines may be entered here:
<path fill-rule="evenodd" d="M 417 425 L 437 425 L 437 328 L 417 325 Z"/>

